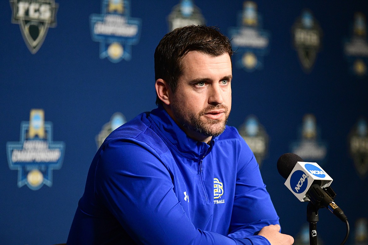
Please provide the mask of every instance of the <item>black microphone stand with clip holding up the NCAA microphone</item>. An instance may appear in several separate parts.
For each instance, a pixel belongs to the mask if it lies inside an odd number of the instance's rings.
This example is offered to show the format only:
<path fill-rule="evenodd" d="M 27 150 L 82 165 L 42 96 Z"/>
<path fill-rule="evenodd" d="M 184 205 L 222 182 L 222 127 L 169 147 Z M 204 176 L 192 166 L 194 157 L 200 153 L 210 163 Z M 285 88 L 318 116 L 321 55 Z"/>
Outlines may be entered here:
<path fill-rule="evenodd" d="M 311 185 L 308 191 L 310 202 L 307 205 L 307 221 L 309 222 L 309 244 L 317 245 L 318 209 L 325 207 L 327 198 L 335 198 L 336 193 L 331 187 L 321 188 L 319 184 Z"/>

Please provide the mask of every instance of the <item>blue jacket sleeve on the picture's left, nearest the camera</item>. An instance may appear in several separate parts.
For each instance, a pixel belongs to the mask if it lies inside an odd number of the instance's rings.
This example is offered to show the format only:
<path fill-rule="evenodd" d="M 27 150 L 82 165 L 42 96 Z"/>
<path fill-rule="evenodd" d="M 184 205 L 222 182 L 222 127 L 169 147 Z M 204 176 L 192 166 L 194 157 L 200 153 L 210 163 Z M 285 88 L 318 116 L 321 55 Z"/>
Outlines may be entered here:
<path fill-rule="evenodd" d="M 269 244 L 261 237 L 227 237 L 194 227 L 170 172 L 151 148 L 112 140 L 101 151 L 95 195 L 139 244 Z"/>

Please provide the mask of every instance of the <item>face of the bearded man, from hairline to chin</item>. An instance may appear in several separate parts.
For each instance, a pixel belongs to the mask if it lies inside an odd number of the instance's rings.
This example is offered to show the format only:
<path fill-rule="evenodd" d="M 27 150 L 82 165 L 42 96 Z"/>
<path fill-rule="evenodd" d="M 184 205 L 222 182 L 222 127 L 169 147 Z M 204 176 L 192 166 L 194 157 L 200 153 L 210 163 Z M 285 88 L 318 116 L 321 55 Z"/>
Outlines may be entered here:
<path fill-rule="evenodd" d="M 208 142 L 224 131 L 231 110 L 229 54 L 211 57 L 191 51 L 181 63 L 182 75 L 171 94 L 169 114 L 188 136 Z"/>

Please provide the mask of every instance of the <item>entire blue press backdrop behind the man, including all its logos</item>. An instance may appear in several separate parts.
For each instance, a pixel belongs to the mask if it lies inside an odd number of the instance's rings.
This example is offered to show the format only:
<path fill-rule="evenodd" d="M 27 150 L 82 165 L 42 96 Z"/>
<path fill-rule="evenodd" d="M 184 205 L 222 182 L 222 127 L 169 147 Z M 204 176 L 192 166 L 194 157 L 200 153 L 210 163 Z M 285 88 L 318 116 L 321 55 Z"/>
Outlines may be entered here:
<path fill-rule="evenodd" d="M 294 152 L 334 179 L 347 244 L 368 243 L 367 1 L 4 0 L 0 8 L 1 244 L 66 242 L 100 142 L 156 107 L 155 47 L 191 23 L 218 26 L 237 50 L 228 124 L 254 150 L 282 231 L 308 244 L 307 203 L 276 168 Z M 339 244 L 346 231 L 326 209 L 317 227 L 319 244 Z"/>

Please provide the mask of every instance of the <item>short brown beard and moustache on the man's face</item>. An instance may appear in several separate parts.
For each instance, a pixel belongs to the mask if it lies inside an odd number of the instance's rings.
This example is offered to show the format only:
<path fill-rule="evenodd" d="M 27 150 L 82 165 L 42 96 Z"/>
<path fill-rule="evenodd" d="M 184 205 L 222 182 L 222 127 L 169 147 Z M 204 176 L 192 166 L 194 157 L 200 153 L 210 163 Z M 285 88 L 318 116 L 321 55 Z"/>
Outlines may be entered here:
<path fill-rule="evenodd" d="M 195 131 L 204 136 L 216 137 L 222 134 L 226 128 L 227 118 L 229 118 L 230 110 L 223 104 L 211 105 L 209 104 L 198 114 L 193 113 L 188 108 L 184 107 L 182 103 L 173 102 L 173 114 L 178 121 L 178 124 L 191 131 Z M 202 118 L 203 115 L 209 111 L 216 109 L 224 109 L 224 119 L 210 119 Z"/>

